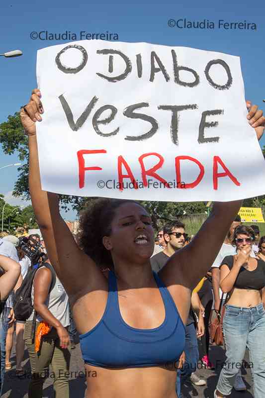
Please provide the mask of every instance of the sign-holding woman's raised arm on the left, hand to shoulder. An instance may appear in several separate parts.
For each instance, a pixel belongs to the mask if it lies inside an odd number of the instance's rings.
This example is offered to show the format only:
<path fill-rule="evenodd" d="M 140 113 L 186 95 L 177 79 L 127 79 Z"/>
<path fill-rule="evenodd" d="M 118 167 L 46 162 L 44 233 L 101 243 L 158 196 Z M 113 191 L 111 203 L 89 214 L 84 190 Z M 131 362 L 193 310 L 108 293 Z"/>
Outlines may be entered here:
<path fill-rule="evenodd" d="M 45 241 L 50 261 L 68 295 L 98 289 L 104 277 L 96 264 L 77 245 L 59 211 L 55 194 L 41 190 L 35 122 L 44 112 L 40 91 L 35 89 L 20 117 L 28 135 L 29 190 L 36 220 Z M 99 285 L 99 286 L 98 286 Z"/>

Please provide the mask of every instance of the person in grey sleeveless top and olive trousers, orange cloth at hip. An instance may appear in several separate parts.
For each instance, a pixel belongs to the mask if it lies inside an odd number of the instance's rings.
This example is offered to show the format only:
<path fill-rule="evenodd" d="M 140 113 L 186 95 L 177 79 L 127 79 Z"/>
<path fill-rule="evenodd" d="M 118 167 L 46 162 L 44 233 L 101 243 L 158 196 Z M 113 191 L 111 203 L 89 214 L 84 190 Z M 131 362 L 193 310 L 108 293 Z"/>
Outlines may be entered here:
<path fill-rule="evenodd" d="M 43 383 L 51 365 L 56 397 L 69 398 L 68 372 L 71 356 L 68 349 L 70 344 L 69 299 L 48 259 L 32 272 L 33 311 L 26 320 L 24 330 L 32 374 L 28 386 L 28 397 L 41 398 L 43 396 Z M 26 302 L 25 297 L 24 300 Z M 40 328 L 46 334 L 37 344 Z"/>

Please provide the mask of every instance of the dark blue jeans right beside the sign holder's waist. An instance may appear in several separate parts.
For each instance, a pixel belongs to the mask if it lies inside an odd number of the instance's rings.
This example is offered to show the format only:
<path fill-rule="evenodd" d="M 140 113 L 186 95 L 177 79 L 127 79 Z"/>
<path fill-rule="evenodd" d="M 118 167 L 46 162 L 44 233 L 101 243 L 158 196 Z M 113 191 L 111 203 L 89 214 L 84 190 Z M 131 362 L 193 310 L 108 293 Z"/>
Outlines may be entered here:
<path fill-rule="evenodd" d="M 192 372 L 195 372 L 199 360 L 198 341 L 196 335 L 195 324 L 190 323 L 186 326 L 185 333 L 185 363 L 182 369 L 177 371 L 177 397 L 181 397 L 181 389 L 183 383 L 190 377 Z"/>

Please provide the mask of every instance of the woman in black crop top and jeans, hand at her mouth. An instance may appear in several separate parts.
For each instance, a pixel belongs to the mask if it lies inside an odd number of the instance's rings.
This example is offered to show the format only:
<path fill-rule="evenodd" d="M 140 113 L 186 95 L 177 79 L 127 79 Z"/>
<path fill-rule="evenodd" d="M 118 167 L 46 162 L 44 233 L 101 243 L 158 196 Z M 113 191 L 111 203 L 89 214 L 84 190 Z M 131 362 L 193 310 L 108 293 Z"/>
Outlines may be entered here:
<path fill-rule="evenodd" d="M 229 294 L 223 320 L 227 360 L 219 376 L 215 398 L 230 395 L 247 347 L 252 365 L 254 396 L 264 397 L 265 262 L 250 256 L 254 239 L 252 228 L 238 226 L 232 241 L 237 254 L 226 256 L 220 265 L 220 288 Z"/>

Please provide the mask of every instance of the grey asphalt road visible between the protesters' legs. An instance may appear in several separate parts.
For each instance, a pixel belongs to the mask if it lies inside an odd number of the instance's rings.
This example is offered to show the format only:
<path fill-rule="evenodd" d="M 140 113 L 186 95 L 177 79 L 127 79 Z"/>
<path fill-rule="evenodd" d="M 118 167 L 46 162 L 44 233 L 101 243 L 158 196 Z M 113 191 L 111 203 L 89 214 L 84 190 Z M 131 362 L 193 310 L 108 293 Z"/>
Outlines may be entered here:
<path fill-rule="evenodd" d="M 70 363 L 70 397 L 72 398 L 84 398 L 86 391 L 86 380 L 83 375 L 84 367 L 83 361 L 80 352 L 80 346 L 77 344 L 75 350 L 71 350 L 71 363 Z M 27 358 L 27 352 L 25 351 L 26 358 L 22 365 L 26 370 L 26 375 L 30 375 L 30 365 L 29 360 Z M 186 384 L 183 390 L 183 394 L 185 398 L 212 398 L 213 392 L 215 390 L 218 375 L 221 371 L 221 364 L 225 361 L 225 355 L 222 347 L 211 346 L 210 347 L 210 358 L 211 361 L 216 365 L 215 370 L 206 370 L 201 369 L 201 366 L 198 365 L 198 369 L 196 374 L 206 380 L 206 386 L 196 387 L 192 384 Z M 245 360 L 248 361 L 248 357 L 246 355 Z M 3 386 L 3 395 L 2 398 L 27 398 L 27 386 L 28 379 L 27 377 L 19 377 L 17 378 L 15 375 L 15 354 L 13 351 L 13 355 L 11 355 L 11 362 L 13 364 L 13 368 L 10 371 L 5 373 L 4 386 Z M 71 377 L 72 372 L 72 377 Z M 75 377 L 77 376 L 77 377 Z M 242 376 L 244 381 L 246 382 L 247 391 L 246 392 L 236 392 L 232 390 L 231 397 L 232 398 L 253 398 L 253 393 L 251 392 L 251 375 L 250 369 L 244 367 L 242 370 Z M 53 379 L 48 378 L 44 383 L 43 388 L 43 397 L 53 397 L 53 388 L 52 388 Z"/>

